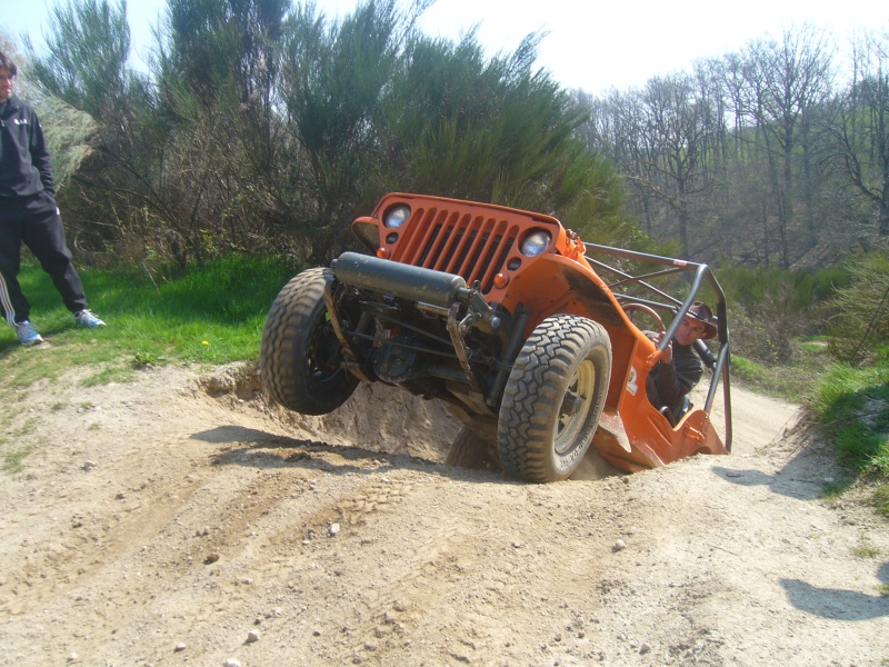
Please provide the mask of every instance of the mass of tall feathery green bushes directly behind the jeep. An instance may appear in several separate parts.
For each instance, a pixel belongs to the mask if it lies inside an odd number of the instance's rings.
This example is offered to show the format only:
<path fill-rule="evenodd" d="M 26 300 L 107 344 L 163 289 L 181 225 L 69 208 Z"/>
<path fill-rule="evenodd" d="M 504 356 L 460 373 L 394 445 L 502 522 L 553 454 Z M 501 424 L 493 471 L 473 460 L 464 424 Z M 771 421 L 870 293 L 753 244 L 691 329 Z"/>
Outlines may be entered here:
<path fill-rule="evenodd" d="M 429 4 L 367 0 L 331 20 L 287 0 L 168 0 L 139 74 L 123 1 L 69 0 L 30 69 L 97 128 L 69 226 L 113 257 L 327 263 L 354 217 L 413 190 L 629 235 L 617 175 L 577 137 L 585 112 L 533 68 L 540 37 L 487 58 L 475 33 L 420 34 Z"/>

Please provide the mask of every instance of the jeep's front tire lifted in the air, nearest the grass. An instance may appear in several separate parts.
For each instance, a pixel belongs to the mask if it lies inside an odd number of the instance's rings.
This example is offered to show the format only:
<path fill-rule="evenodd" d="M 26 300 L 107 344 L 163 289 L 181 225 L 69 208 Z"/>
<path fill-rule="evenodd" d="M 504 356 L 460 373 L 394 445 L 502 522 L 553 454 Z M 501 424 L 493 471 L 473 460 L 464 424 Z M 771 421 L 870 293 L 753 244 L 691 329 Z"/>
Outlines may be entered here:
<path fill-rule="evenodd" d="M 324 285 L 333 271 L 308 269 L 288 282 L 269 309 L 260 375 L 269 396 L 302 415 L 327 415 L 352 395 L 358 378 L 342 367 L 342 346 L 327 315 Z"/>

